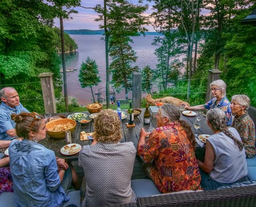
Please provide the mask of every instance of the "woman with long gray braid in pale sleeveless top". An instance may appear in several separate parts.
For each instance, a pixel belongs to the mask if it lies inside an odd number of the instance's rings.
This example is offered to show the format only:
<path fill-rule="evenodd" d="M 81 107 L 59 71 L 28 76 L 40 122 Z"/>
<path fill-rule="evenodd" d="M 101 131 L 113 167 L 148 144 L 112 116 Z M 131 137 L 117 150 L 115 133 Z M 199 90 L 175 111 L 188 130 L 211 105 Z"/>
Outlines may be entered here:
<path fill-rule="evenodd" d="M 249 180 L 241 137 L 235 128 L 226 126 L 226 114 L 220 109 L 211 109 L 206 121 L 214 134 L 206 139 L 204 162 L 197 160 L 202 169 L 201 186 L 213 190 Z"/>

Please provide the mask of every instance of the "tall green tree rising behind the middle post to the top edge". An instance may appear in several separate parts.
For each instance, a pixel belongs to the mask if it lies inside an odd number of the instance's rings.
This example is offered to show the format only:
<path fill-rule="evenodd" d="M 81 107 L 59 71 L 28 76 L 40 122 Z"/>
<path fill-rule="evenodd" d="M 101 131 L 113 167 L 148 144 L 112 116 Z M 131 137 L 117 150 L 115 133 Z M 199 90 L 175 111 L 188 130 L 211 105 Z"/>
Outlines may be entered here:
<path fill-rule="evenodd" d="M 132 66 L 137 57 L 130 45 L 131 37 L 145 35 L 147 29 L 143 25 L 148 24 L 148 17 L 143 13 L 148 9 L 148 5 L 135 5 L 126 0 L 104 2 L 105 7 L 95 6 L 95 11 L 99 13 L 99 18 L 95 21 L 105 20 L 104 25 L 100 24 L 99 27 L 105 31 L 107 77 L 110 72 L 117 92 L 124 87 L 125 97 L 128 98 L 132 72 L 139 70 L 138 67 Z M 110 65 L 108 54 L 112 60 Z"/>

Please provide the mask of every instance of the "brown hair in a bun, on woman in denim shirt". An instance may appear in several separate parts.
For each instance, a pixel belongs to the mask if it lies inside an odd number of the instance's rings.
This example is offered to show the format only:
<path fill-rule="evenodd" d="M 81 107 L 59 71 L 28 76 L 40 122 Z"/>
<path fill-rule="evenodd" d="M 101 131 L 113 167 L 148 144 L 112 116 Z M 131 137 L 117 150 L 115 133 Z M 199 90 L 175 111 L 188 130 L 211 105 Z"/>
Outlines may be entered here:
<path fill-rule="evenodd" d="M 41 126 L 41 123 L 45 121 L 41 115 L 35 112 L 21 112 L 19 114 L 13 113 L 11 115 L 11 119 L 17 123 L 15 126 L 17 136 L 24 139 L 29 139 L 30 131 L 38 133 L 39 126 Z"/>

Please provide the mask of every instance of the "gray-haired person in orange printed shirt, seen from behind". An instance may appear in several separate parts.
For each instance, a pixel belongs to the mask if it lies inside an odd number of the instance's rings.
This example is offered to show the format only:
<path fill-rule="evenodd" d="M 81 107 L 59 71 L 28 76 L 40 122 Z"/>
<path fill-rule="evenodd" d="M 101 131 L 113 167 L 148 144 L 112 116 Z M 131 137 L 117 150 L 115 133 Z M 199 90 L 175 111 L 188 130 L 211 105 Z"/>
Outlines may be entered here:
<path fill-rule="evenodd" d="M 180 111 L 172 104 L 159 107 L 156 119 L 157 128 L 151 134 L 142 128 L 138 143 L 146 175 L 162 193 L 201 189 L 196 140 L 190 126 L 180 120 Z"/>

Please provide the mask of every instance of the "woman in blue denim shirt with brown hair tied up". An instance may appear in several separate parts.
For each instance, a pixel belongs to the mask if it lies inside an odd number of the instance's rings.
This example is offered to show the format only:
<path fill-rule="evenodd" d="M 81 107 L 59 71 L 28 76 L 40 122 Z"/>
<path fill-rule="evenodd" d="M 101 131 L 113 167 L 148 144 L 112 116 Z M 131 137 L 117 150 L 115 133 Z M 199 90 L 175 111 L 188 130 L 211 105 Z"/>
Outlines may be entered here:
<path fill-rule="evenodd" d="M 9 146 L 15 206 L 62 206 L 69 200 L 62 184 L 70 185 L 71 170 L 58 171 L 54 152 L 38 144 L 46 136 L 45 119 L 35 112 L 11 117 L 23 138 Z"/>

